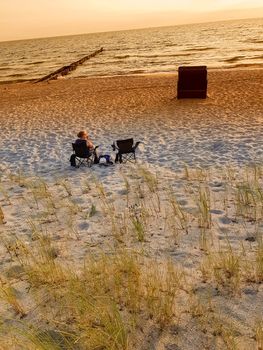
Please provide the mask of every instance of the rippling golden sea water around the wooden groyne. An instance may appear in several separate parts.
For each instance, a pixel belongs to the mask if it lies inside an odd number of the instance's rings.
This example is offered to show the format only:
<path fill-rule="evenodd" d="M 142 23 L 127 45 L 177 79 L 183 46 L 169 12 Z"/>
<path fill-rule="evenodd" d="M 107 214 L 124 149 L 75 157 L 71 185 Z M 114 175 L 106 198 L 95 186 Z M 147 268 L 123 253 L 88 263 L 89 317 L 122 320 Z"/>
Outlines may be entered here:
<path fill-rule="evenodd" d="M 263 67 L 263 18 L 0 42 L 0 81 L 40 78 L 100 47 L 66 77 Z"/>

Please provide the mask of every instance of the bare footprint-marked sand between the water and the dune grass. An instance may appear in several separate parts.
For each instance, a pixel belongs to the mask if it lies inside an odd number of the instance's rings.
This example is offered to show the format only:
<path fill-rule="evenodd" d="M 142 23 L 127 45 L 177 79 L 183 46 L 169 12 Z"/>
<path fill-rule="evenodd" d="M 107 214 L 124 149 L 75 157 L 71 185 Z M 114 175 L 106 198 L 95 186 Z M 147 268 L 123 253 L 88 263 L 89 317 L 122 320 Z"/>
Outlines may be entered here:
<path fill-rule="evenodd" d="M 64 174 L 82 128 L 102 153 L 134 137 L 139 159 L 171 170 L 262 161 L 263 70 L 209 71 L 208 95 L 175 99 L 175 75 L 0 85 L 1 168 Z"/>

